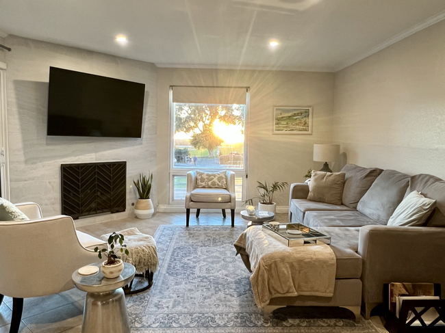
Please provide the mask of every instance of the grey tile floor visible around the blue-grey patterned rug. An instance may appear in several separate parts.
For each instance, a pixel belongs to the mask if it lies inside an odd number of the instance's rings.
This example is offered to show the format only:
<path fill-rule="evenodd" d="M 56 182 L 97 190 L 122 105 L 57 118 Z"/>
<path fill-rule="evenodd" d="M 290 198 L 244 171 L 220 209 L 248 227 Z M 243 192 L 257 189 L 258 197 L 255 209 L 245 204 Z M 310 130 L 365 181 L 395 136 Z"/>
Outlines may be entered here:
<path fill-rule="evenodd" d="M 229 212 L 229 211 L 228 211 Z M 277 222 L 288 222 L 288 214 L 279 213 Z M 94 237 L 100 237 L 107 232 L 136 227 L 148 235 L 154 235 L 162 224 L 186 225 L 186 213 L 155 213 L 151 219 L 127 218 L 110 222 L 90 224 L 77 228 Z M 235 224 L 246 226 L 247 221 L 236 213 Z M 230 213 L 223 219 L 222 213 L 201 212 L 199 218 L 190 215 L 190 226 L 231 226 Z M 98 259 L 99 261 L 99 259 Z M 71 289 L 45 297 L 24 299 L 21 333 L 79 333 L 81 332 L 82 315 L 84 311 L 85 294 L 83 291 Z M 5 297 L 0 305 L 0 333 L 8 333 L 12 317 L 12 299 Z"/>

